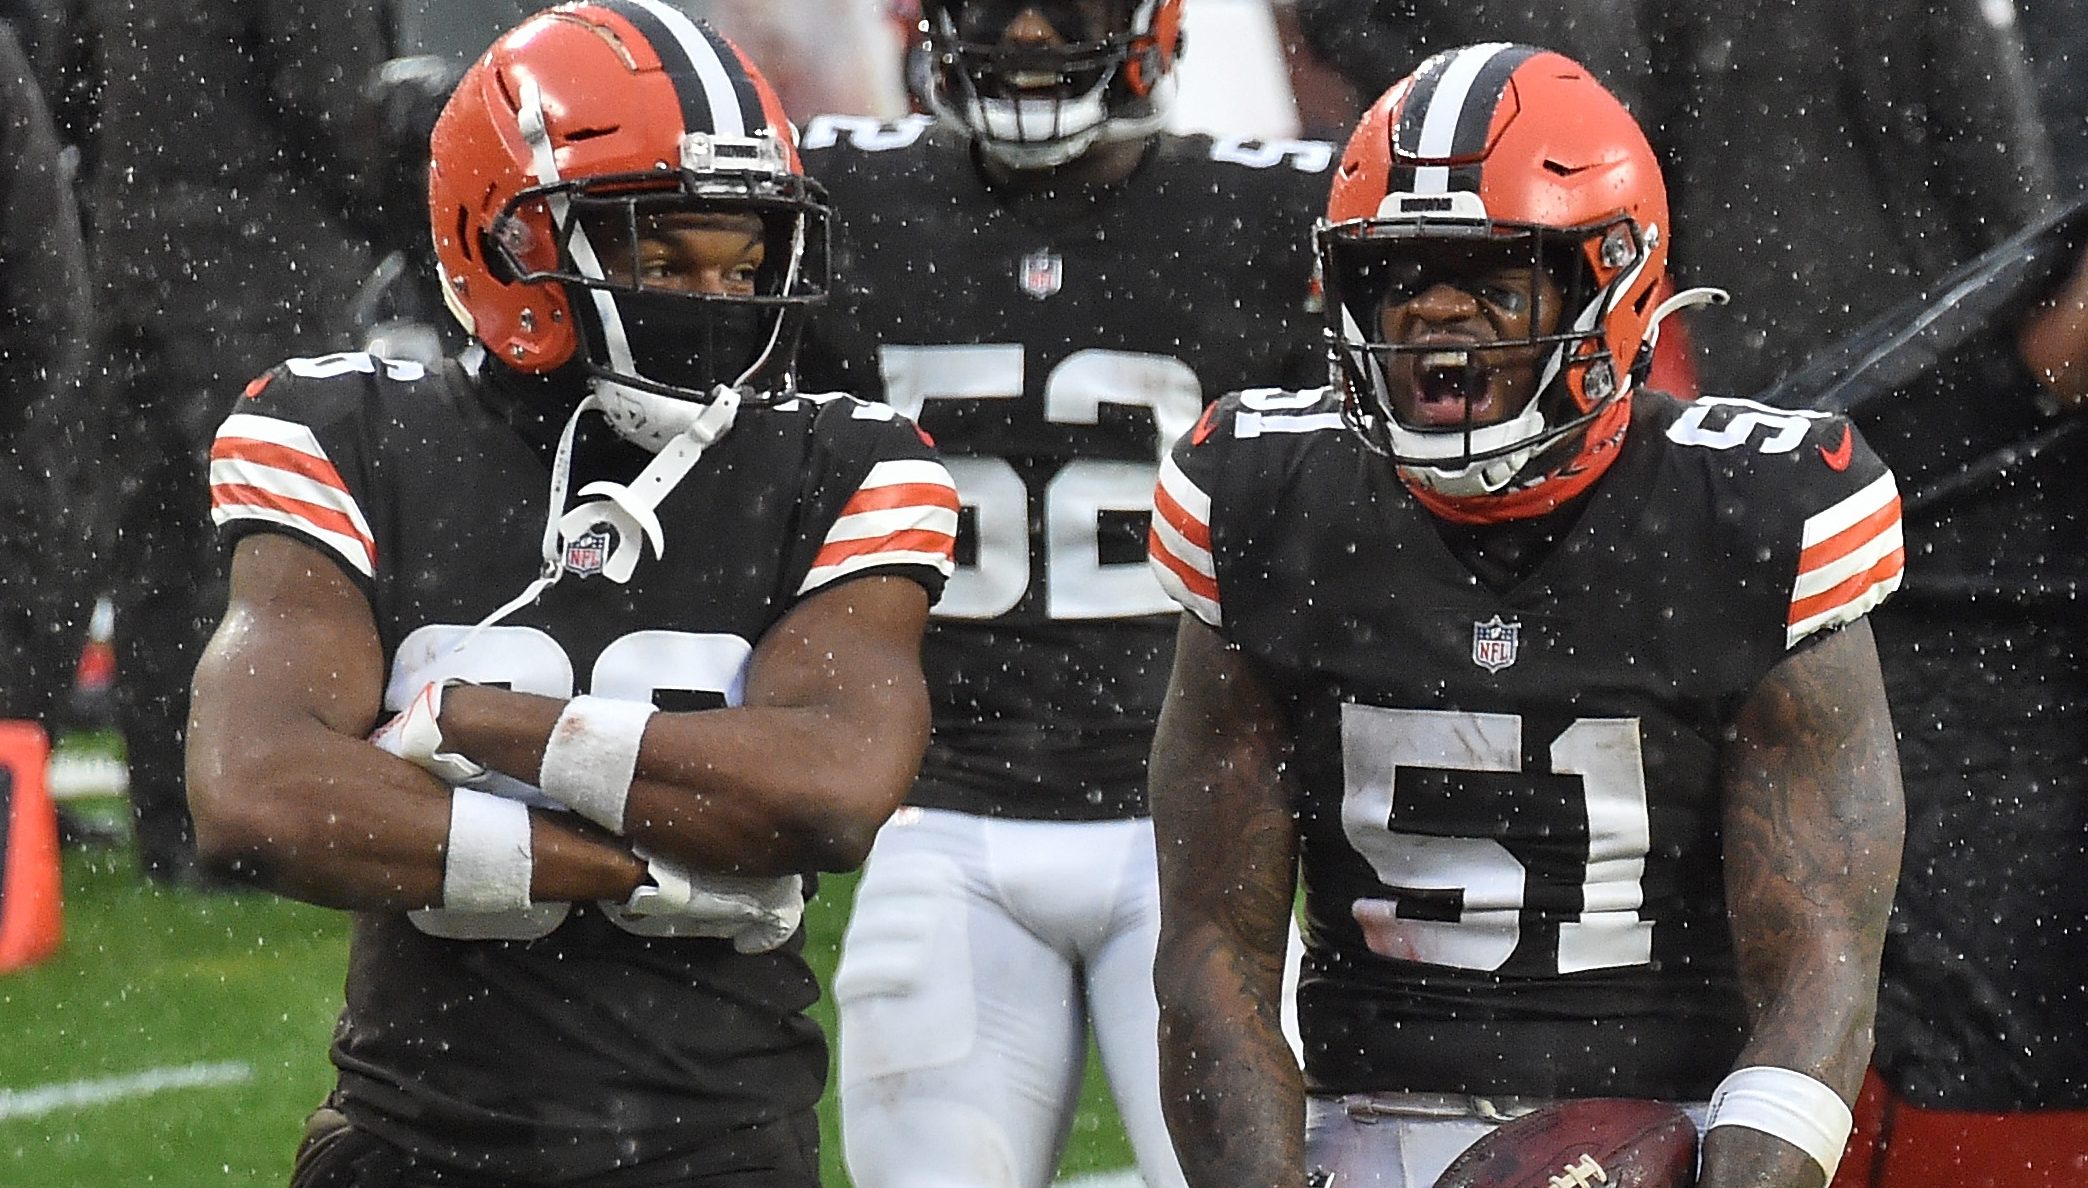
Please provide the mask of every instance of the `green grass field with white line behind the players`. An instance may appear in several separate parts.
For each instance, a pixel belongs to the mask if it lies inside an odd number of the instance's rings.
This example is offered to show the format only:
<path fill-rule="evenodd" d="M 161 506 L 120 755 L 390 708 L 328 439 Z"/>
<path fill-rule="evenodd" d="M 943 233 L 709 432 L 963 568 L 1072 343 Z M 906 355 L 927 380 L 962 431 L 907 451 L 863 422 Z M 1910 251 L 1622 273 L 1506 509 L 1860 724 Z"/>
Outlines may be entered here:
<path fill-rule="evenodd" d="M 115 818 L 119 802 L 75 802 Z M 825 981 L 852 877 L 823 879 L 806 956 Z M 288 1184 L 305 1113 L 332 1082 L 347 917 L 267 894 L 155 889 L 125 850 L 67 852 L 65 946 L 0 975 L 0 1184 Z M 831 1002 L 814 1013 L 833 1025 Z M 833 1100 L 827 1184 L 848 1184 Z M 1130 1167 L 1088 1061 L 1061 1175 Z"/>

